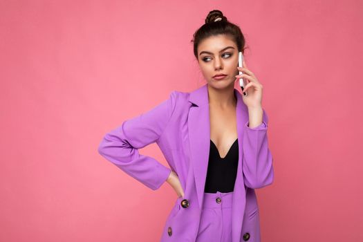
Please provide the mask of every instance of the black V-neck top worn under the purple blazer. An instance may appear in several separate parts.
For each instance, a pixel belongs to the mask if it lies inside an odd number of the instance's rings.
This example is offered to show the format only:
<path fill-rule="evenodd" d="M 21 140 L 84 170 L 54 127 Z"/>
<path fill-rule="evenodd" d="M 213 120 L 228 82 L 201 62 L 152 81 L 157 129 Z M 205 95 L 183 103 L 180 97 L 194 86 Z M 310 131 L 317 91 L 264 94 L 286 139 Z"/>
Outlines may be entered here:
<path fill-rule="evenodd" d="M 219 155 L 214 142 L 210 140 L 210 158 L 204 192 L 233 192 L 239 160 L 238 138 L 234 141 L 224 158 Z"/>

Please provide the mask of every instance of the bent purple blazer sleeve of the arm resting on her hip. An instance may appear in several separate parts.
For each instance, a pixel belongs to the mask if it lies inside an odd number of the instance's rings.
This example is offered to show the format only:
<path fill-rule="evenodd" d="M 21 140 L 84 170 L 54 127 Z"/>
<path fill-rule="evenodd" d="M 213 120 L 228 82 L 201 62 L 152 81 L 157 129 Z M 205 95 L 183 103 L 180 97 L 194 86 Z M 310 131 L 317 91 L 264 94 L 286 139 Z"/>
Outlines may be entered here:
<path fill-rule="evenodd" d="M 129 176 L 156 190 L 171 169 L 158 160 L 139 153 L 138 149 L 156 142 L 167 127 L 176 106 L 176 91 L 153 109 L 125 120 L 120 127 L 106 133 L 98 152 Z"/>

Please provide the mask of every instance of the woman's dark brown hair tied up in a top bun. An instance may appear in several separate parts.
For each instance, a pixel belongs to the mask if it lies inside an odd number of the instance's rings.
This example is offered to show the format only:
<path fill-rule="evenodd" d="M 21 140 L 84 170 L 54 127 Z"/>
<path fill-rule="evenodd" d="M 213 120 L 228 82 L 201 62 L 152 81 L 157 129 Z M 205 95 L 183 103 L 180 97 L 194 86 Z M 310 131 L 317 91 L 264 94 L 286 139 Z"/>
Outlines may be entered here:
<path fill-rule="evenodd" d="M 212 10 L 205 18 L 205 24 L 198 28 L 194 32 L 191 42 L 194 43 L 194 56 L 198 59 L 198 45 L 203 39 L 214 35 L 227 35 L 232 37 L 232 40 L 236 43 L 238 51 L 243 54 L 245 52 L 245 37 L 241 31 L 241 28 L 236 24 L 232 24 L 227 20 L 227 17 L 223 15 L 220 10 Z"/>

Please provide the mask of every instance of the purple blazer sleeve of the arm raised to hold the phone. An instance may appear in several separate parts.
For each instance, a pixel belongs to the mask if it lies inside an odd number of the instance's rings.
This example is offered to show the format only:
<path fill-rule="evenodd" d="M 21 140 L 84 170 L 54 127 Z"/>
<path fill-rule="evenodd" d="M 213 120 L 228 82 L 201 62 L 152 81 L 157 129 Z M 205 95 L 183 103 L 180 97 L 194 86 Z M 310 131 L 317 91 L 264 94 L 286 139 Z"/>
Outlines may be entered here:
<path fill-rule="evenodd" d="M 272 154 L 268 147 L 268 115 L 263 109 L 263 122 L 254 128 L 245 123 L 243 136 L 243 177 L 246 187 L 266 187 L 274 180 Z"/>

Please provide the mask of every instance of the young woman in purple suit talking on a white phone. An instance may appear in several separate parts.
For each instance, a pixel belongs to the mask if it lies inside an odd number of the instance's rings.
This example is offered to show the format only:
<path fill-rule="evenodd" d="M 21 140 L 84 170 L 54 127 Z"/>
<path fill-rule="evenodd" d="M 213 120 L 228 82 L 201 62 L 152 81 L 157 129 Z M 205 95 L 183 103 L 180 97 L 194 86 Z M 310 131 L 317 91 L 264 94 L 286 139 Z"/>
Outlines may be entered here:
<path fill-rule="evenodd" d="M 221 11 L 207 15 L 192 41 L 207 83 L 190 93 L 173 91 L 125 120 L 106 133 L 98 151 L 153 190 L 165 182 L 174 188 L 178 198 L 161 241 L 260 241 L 254 189 L 274 176 L 263 86 L 245 62 L 238 67 L 245 39 Z M 234 89 L 241 77 L 248 95 Z M 153 142 L 170 168 L 138 152 Z"/>

